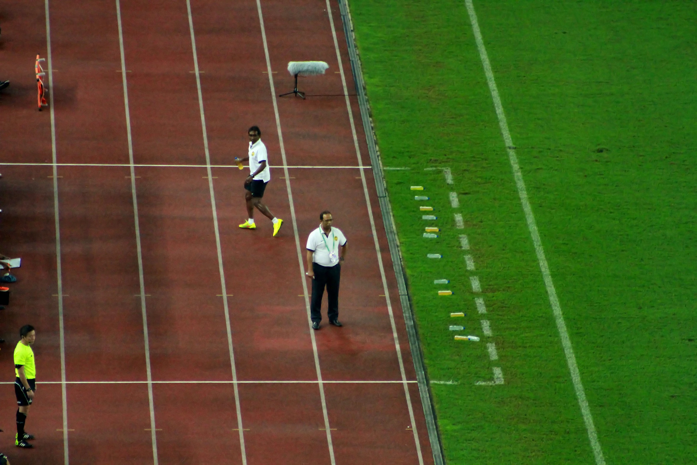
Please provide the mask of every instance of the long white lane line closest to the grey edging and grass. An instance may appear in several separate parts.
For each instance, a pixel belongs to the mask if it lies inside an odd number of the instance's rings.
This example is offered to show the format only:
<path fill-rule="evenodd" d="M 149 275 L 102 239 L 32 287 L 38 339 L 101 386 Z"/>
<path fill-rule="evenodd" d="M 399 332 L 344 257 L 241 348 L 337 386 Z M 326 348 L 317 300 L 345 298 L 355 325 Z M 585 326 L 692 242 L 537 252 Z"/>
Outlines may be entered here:
<path fill-rule="evenodd" d="M 337 53 L 337 62 L 339 64 L 339 74 L 342 77 L 342 86 L 344 86 L 344 99 L 346 100 L 346 112 L 348 113 L 348 121 L 351 123 L 351 134 L 353 135 L 353 145 L 355 146 L 355 155 L 358 160 L 358 166 L 362 167 L 363 162 L 360 157 L 360 146 L 358 145 L 358 135 L 355 132 L 355 122 L 353 121 L 353 111 L 351 110 L 351 100 L 348 98 L 348 87 L 346 86 L 346 76 L 344 75 L 344 63 L 342 62 L 342 55 L 339 52 L 339 40 L 337 39 L 337 30 L 334 26 L 334 17 L 332 15 L 332 6 L 329 0 L 326 0 L 327 5 L 327 15 L 329 16 L 329 24 L 332 28 L 332 38 L 334 39 L 334 48 Z M 446 181 L 450 175 L 450 169 L 447 170 L 447 175 L 445 176 Z M 390 289 L 388 287 L 387 277 L 385 277 L 385 267 L 383 266 L 383 258 L 380 251 L 380 243 L 378 242 L 378 233 L 375 229 L 375 220 L 373 218 L 373 209 L 370 203 L 370 196 L 368 194 L 368 186 L 365 182 L 365 171 L 360 170 L 360 180 L 363 185 L 363 194 L 365 195 L 365 204 L 368 211 L 368 218 L 370 220 L 370 229 L 373 235 L 373 242 L 375 244 L 375 253 L 378 259 L 378 266 L 380 267 L 380 275 L 383 281 L 383 291 L 385 292 L 385 302 L 388 306 L 388 314 L 390 315 L 390 325 L 392 326 L 392 339 L 395 341 L 395 351 L 397 353 L 397 361 L 399 362 L 399 373 L 401 374 L 401 380 L 404 384 L 404 397 L 406 399 L 406 406 L 409 411 L 409 421 L 411 421 L 411 428 L 414 436 L 414 444 L 416 447 L 416 455 L 419 459 L 419 465 L 424 464 L 424 457 L 421 452 L 421 442 L 419 441 L 419 434 L 416 428 L 416 420 L 414 418 L 414 409 L 411 404 L 411 395 L 409 394 L 409 385 L 406 381 L 406 372 L 404 371 L 404 360 L 401 357 L 401 348 L 399 347 L 399 337 L 397 336 L 397 325 L 395 324 L 395 314 L 392 312 L 392 302 L 390 300 Z M 450 176 L 449 183 L 452 183 L 452 176 Z"/>

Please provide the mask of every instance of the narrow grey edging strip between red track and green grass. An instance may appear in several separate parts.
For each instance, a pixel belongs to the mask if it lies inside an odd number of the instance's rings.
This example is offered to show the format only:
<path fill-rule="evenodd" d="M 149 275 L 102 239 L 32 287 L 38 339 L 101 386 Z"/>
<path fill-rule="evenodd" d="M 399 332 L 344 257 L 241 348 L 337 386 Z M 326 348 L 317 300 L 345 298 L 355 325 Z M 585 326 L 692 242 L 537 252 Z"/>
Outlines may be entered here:
<path fill-rule="evenodd" d="M 409 347 L 411 349 L 411 358 L 414 362 L 416 371 L 416 379 L 419 386 L 419 394 L 421 404 L 424 409 L 424 418 L 426 419 L 426 428 L 429 433 L 429 441 L 431 442 L 431 451 L 434 456 L 435 465 L 444 465 L 443 459 L 443 443 L 441 442 L 441 434 L 438 432 L 438 422 L 436 421 L 436 408 L 433 404 L 431 396 L 431 388 L 426 367 L 424 366 L 424 358 L 419 342 L 418 329 L 414 321 L 413 305 L 411 305 L 411 294 L 408 290 L 406 282 L 406 273 L 404 272 L 404 262 L 401 259 L 401 250 L 399 249 L 399 239 L 397 238 L 397 228 L 395 227 L 395 218 L 392 216 L 392 205 L 385 189 L 385 178 L 383 174 L 383 164 L 380 158 L 380 152 L 376 143 L 375 132 L 372 123 L 370 105 L 365 93 L 365 83 L 363 81 L 363 72 L 360 66 L 360 57 L 358 50 L 355 47 L 355 37 L 353 35 L 353 22 L 351 21 L 351 12 L 348 9 L 348 0 L 337 0 L 339 2 L 339 10 L 342 15 L 342 23 L 344 24 L 344 36 L 346 36 L 346 45 L 348 45 L 348 57 L 351 61 L 351 72 L 353 73 L 353 82 L 358 96 L 358 105 L 360 106 L 360 116 L 363 121 L 363 130 L 365 139 L 368 145 L 368 153 L 375 178 L 375 188 L 378 193 L 378 201 L 380 202 L 380 211 L 383 215 L 383 224 L 385 224 L 385 234 L 388 238 L 390 247 L 390 256 L 392 257 L 392 266 L 395 268 L 395 277 L 397 277 L 397 289 L 399 289 L 399 300 L 401 302 L 402 314 L 404 314 L 404 322 L 406 323 L 406 333 L 409 338 Z"/>

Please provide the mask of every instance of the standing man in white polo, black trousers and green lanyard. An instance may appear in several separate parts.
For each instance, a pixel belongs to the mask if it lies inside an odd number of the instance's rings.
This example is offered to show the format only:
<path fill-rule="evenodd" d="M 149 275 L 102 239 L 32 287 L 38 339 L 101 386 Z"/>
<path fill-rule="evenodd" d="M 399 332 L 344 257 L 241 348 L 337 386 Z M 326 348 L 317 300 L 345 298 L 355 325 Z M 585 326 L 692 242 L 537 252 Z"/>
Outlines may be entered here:
<path fill-rule="evenodd" d="M 325 286 L 329 300 L 329 322 L 334 326 L 343 326 L 339 322 L 339 281 L 342 277 L 339 261 L 346 258 L 346 237 L 339 229 L 332 228 L 332 213 L 325 210 L 319 214 L 319 219 L 319 228 L 312 231 L 307 238 L 305 275 L 312 278 L 312 301 L 309 306 L 312 329 L 319 329 L 319 322 L 322 321 L 321 308 Z"/>

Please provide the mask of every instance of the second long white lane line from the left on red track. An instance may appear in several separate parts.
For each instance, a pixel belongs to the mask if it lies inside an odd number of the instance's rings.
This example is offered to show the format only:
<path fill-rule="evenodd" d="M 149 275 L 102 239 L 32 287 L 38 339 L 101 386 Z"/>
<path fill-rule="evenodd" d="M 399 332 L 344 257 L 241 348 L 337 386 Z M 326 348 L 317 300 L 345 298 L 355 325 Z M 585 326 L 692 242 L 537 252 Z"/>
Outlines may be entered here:
<path fill-rule="evenodd" d="M 155 404 L 153 402 L 153 374 L 150 367 L 150 340 L 148 337 L 148 312 L 145 303 L 145 279 L 143 276 L 143 254 L 140 243 L 140 223 L 138 220 L 138 198 L 135 189 L 135 167 L 133 165 L 133 139 L 131 137 L 130 109 L 128 107 L 128 82 L 126 80 L 125 52 L 123 51 L 123 28 L 121 26 L 121 3 L 116 0 L 116 20 L 118 22 L 118 47 L 121 52 L 121 80 L 123 81 L 123 106 L 126 117 L 126 136 L 128 138 L 128 161 L 130 162 L 131 197 L 133 200 L 133 221 L 135 225 L 135 245 L 138 255 L 138 279 L 140 285 L 140 308 L 143 317 L 143 340 L 145 346 L 145 369 L 148 378 L 148 405 L 150 406 L 150 433 L 153 442 L 153 464 L 158 465 L 158 437 L 155 427 Z"/>

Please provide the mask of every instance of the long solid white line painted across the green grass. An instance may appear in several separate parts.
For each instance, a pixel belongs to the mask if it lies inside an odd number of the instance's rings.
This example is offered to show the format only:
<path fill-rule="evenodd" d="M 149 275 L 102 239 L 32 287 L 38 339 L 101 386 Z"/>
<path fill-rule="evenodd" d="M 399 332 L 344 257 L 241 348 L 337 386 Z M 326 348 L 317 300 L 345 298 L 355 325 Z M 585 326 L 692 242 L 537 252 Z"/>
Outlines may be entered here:
<path fill-rule="evenodd" d="M 595 455 L 596 464 L 604 465 L 605 458 L 603 456 L 603 450 L 600 447 L 600 441 L 598 440 L 598 435 L 595 431 L 595 424 L 593 422 L 592 414 L 590 413 L 590 406 L 588 406 L 588 399 L 585 398 L 585 390 L 583 389 L 583 383 L 581 382 L 581 372 L 579 372 L 579 366 L 576 364 L 576 356 L 574 355 L 574 349 L 572 347 L 571 339 L 569 338 L 569 332 L 566 328 L 564 315 L 562 314 L 562 308 L 559 303 L 559 299 L 557 298 L 557 293 L 556 289 L 554 288 L 554 283 L 552 282 L 551 273 L 549 272 L 549 264 L 547 264 L 547 259 L 544 255 L 542 239 L 539 237 L 539 232 L 537 231 L 537 222 L 535 222 L 533 208 L 530 206 L 530 201 L 528 200 L 528 191 L 526 190 L 526 185 L 523 181 L 523 174 L 521 172 L 520 165 L 518 164 L 518 156 L 516 155 L 516 151 L 513 145 L 513 139 L 511 138 L 510 130 L 508 130 L 506 115 L 503 112 L 503 105 L 501 105 L 501 99 L 498 95 L 496 80 L 494 80 L 493 78 L 493 72 L 491 71 L 491 64 L 489 63 L 487 49 L 484 47 L 484 40 L 482 39 L 482 33 L 480 31 L 479 23 L 477 22 L 477 14 L 475 13 L 475 8 L 472 4 L 472 0 L 465 0 L 465 4 L 467 6 L 467 12 L 470 16 L 470 22 L 472 23 L 472 30 L 474 32 L 475 40 L 477 42 L 477 49 L 479 49 L 480 57 L 482 58 L 482 66 L 484 66 L 484 73 L 487 75 L 489 91 L 491 91 L 493 105 L 496 108 L 496 116 L 498 117 L 498 123 L 501 128 L 501 135 L 503 135 L 503 141 L 508 152 L 508 160 L 510 161 L 513 176 L 516 181 L 518 195 L 521 199 L 521 204 L 523 206 L 523 211 L 525 212 L 526 221 L 528 222 L 530 236 L 531 238 L 533 238 L 533 244 L 535 245 L 535 254 L 537 254 L 539 268 L 540 270 L 542 270 L 544 285 L 547 289 L 547 294 L 549 295 L 549 303 L 551 304 L 554 313 L 554 319 L 556 320 L 557 330 L 559 332 L 559 337 L 562 342 L 562 347 L 564 348 L 564 355 L 567 359 L 567 365 L 569 365 L 569 372 L 574 383 L 576 398 L 579 400 L 579 407 L 581 408 L 581 414 L 583 415 L 585 429 L 588 431 L 588 440 L 590 441 L 590 447 L 592 448 L 593 454 Z"/>

